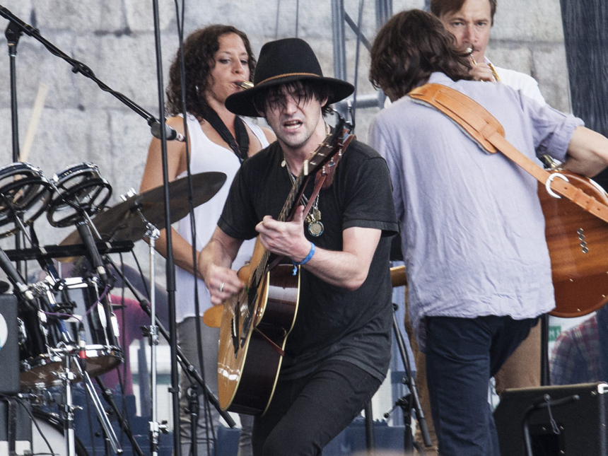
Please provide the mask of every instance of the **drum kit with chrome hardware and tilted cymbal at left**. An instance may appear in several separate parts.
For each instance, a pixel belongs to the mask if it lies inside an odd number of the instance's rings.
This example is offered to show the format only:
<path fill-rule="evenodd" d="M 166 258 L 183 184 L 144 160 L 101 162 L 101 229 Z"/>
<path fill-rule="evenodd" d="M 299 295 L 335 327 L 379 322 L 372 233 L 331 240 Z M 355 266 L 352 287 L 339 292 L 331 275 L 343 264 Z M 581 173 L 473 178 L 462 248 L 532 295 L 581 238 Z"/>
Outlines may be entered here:
<path fill-rule="evenodd" d="M 225 180 L 223 173 L 193 176 L 194 206 L 213 197 Z M 170 183 L 173 220 L 189 211 L 184 197 L 187 185 L 187 178 Z M 18 301 L 19 396 L 27 398 L 33 408 L 35 453 L 85 454 L 74 435 L 76 407 L 71 396 L 72 385 L 78 382 L 83 382 L 93 403 L 105 442 L 115 454 L 123 452 L 91 380 L 124 361 L 119 325 L 109 300 L 115 277 L 106 265 L 116 267 L 107 254 L 129 252 L 134 242 L 144 237 L 153 240 L 152 230 L 165 220 L 165 203 L 163 187 L 142 194 L 130 191 L 121 203 L 106 209 L 111 195 L 112 187 L 93 163 L 73 165 L 49 180 L 29 163 L 0 168 L 0 237 L 23 235 L 31 246 L 0 250 L 0 268 L 12 283 Z M 34 222 L 42 214 L 51 226 L 73 226 L 76 230 L 59 245 L 40 246 Z M 153 242 L 150 244 L 153 252 Z M 52 262 L 54 258 L 82 262 L 81 257 L 91 266 L 78 268 L 84 271 L 82 276 L 62 278 Z M 29 259 L 36 259 L 42 267 L 42 281 L 28 284 L 23 279 L 20 263 Z M 154 283 L 152 271 L 153 264 Z M 99 379 L 98 383 L 105 390 Z M 49 387 L 62 391 L 58 414 L 46 411 Z M 57 439 L 58 431 L 64 443 Z M 52 443 L 45 438 L 47 433 L 54 435 Z M 142 454 L 135 448 L 134 452 Z"/>

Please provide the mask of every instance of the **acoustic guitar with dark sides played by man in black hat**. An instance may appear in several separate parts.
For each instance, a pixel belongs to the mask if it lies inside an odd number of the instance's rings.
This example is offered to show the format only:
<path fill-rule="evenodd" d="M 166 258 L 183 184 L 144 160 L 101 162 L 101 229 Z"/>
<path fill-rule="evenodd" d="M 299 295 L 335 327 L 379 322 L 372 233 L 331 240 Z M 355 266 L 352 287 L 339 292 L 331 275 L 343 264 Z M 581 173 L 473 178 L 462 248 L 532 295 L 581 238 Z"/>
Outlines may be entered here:
<path fill-rule="evenodd" d="M 310 177 L 336 165 L 353 139 L 347 136 L 343 141 L 343 129 L 340 122 L 304 164 L 279 221 L 293 218 Z M 223 410 L 258 415 L 270 404 L 298 313 L 299 267 L 294 270 L 291 262 L 281 264 L 281 260 L 258 238 L 250 264 L 238 271 L 245 288 L 223 305 L 218 355 L 218 397 Z"/>

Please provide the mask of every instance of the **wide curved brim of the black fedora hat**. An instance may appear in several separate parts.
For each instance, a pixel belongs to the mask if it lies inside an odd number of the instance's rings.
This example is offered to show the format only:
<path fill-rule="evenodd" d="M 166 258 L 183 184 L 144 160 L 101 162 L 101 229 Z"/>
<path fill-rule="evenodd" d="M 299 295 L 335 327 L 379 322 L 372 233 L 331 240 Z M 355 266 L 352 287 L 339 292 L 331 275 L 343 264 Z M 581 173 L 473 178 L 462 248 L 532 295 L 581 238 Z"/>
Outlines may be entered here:
<path fill-rule="evenodd" d="M 233 93 L 228 98 L 226 98 L 226 108 L 230 112 L 234 112 L 236 115 L 242 115 L 245 117 L 264 117 L 263 114 L 257 112 L 255 109 L 255 105 L 253 104 L 253 99 L 255 95 L 257 95 L 260 91 L 265 88 L 269 88 L 272 86 L 279 86 L 284 83 L 289 83 L 293 81 L 319 81 L 324 83 L 327 88 L 329 88 L 329 98 L 327 100 L 327 104 L 331 105 L 332 103 L 337 103 L 340 100 L 344 100 L 344 98 L 348 97 L 355 91 L 354 86 L 351 83 L 346 81 L 342 81 L 337 78 L 325 78 L 323 76 L 302 76 L 298 75 L 290 75 L 283 76 L 281 78 L 274 78 L 271 81 L 262 82 L 253 86 L 252 88 L 247 88 L 245 90 L 241 90 L 240 92 Z"/>

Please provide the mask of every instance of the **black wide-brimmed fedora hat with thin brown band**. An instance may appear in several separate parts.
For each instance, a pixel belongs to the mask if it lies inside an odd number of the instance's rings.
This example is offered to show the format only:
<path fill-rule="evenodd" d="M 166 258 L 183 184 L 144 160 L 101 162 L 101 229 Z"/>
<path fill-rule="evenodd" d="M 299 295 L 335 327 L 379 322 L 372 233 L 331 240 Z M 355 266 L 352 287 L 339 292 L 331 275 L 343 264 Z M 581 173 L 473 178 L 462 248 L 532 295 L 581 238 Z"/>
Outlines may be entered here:
<path fill-rule="evenodd" d="M 226 98 L 226 107 L 238 115 L 260 117 L 253 105 L 257 93 L 271 86 L 303 80 L 324 83 L 330 92 L 328 103 L 344 100 L 355 90 L 351 83 L 323 76 L 308 42 L 300 38 L 284 38 L 262 46 L 253 75 L 253 87 L 230 95 Z"/>

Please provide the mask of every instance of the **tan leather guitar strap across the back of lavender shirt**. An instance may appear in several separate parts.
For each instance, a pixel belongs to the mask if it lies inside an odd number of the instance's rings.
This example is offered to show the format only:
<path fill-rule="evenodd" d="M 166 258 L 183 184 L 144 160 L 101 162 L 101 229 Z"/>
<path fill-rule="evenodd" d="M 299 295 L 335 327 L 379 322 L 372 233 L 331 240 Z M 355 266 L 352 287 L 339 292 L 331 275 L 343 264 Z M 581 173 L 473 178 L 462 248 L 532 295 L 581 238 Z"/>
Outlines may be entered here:
<path fill-rule="evenodd" d="M 500 151 L 542 183 L 550 194 L 566 197 L 608 223 L 608 206 L 571 185 L 567 177 L 549 173 L 518 151 L 505 139 L 503 126 L 483 106 L 457 90 L 440 84 L 426 84 L 408 93 L 413 100 L 435 107 L 456 122 L 489 153 Z"/>

